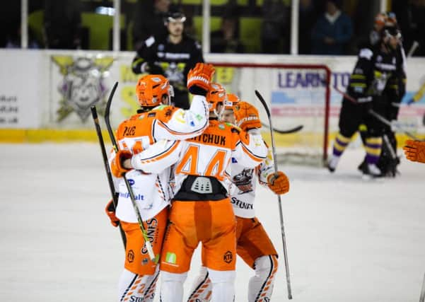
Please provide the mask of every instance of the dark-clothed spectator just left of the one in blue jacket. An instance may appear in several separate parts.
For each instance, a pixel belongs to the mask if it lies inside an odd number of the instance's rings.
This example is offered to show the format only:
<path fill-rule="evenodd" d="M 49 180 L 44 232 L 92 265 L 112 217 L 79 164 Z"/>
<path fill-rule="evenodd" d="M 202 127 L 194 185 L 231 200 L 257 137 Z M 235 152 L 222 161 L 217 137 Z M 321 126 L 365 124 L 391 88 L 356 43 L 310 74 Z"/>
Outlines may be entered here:
<path fill-rule="evenodd" d="M 284 2 L 264 0 L 261 26 L 262 52 L 264 54 L 288 53 L 289 28 L 289 10 Z"/>

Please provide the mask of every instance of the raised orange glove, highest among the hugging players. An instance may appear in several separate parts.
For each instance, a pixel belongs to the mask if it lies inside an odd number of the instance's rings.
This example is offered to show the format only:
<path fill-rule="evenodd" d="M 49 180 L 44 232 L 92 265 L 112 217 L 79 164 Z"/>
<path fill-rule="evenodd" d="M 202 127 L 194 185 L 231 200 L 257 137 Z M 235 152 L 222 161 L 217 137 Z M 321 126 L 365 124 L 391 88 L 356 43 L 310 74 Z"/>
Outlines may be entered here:
<path fill-rule="evenodd" d="M 189 92 L 205 96 L 209 91 L 215 71 L 214 66 L 211 64 L 197 63 L 187 74 L 187 89 Z"/>

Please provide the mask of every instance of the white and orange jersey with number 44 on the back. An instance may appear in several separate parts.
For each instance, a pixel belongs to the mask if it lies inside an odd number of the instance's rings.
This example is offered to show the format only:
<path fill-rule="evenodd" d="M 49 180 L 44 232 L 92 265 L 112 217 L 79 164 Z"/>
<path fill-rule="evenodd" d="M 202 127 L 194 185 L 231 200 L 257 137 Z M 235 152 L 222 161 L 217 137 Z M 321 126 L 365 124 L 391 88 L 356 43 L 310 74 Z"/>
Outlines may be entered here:
<path fill-rule="evenodd" d="M 133 156 L 132 165 L 145 172 L 156 172 L 175 163 L 171 185 L 174 193 L 188 175 L 216 178 L 229 190 L 232 158 L 246 168 L 255 168 L 266 156 L 267 146 L 260 133 L 248 134 L 232 124 L 211 120 L 201 135 L 185 141 L 158 142 Z"/>

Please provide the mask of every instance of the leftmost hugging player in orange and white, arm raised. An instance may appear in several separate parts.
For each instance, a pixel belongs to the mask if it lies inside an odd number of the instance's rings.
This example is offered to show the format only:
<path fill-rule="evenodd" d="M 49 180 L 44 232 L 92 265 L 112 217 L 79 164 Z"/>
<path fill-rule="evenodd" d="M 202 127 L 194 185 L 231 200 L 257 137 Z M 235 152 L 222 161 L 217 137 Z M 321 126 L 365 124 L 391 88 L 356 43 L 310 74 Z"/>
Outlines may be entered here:
<path fill-rule="evenodd" d="M 209 85 L 213 73 L 214 67 L 203 63 L 197 64 L 191 71 L 190 85 L 187 87 L 194 93 L 194 97 L 189 110 L 167 105 L 172 86 L 164 76 L 143 76 L 136 86 L 141 108 L 136 115 L 124 120 L 117 129 L 120 151 L 112 155 L 111 171 L 118 178 L 119 199 L 116 214 L 111 211 L 113 208 L 110 204 L 107 205 L 106 211 L 112 224 L 116 226 L 121 223 L 127 238 L 118 301 L 152 301 L 159 271 L 158 259 L 156 262 L 149 260 L 137 216 L 121 176 L 126 173 L 131 182 L 141 219 L 157 258 L 161 253 L 168 220 L 168 205 L 172 197 L 168 190 L 170 168 L 164 166 L 158 168 L 156 173 L 148 174 L 138 169 L 125 169 L 122 162 L 140 151 L 150 151 L 156 141 L 160 141 L 165 148 L 165 156 L 177 147 L 178 140 L 201 134 L 209 124 L 209 110 L 199 84 Z"/>

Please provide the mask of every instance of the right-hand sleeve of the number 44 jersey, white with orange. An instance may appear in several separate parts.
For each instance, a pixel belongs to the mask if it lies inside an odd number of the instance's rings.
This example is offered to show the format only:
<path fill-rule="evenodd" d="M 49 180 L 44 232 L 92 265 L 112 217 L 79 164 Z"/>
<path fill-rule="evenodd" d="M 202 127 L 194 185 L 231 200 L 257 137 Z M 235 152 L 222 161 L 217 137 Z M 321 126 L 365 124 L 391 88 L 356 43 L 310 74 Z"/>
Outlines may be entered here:
<path fill-rule="evenodd" d="M 255 168 L 264 161 L 266 156 L 267 146 L 258 129 L 250 133 L 243 131 L 238 132 L 238 141 L 235 144 L 235 149 L 232 151 L 232 157 L 235 158 L 240 165 L 246 168 Z"/>

